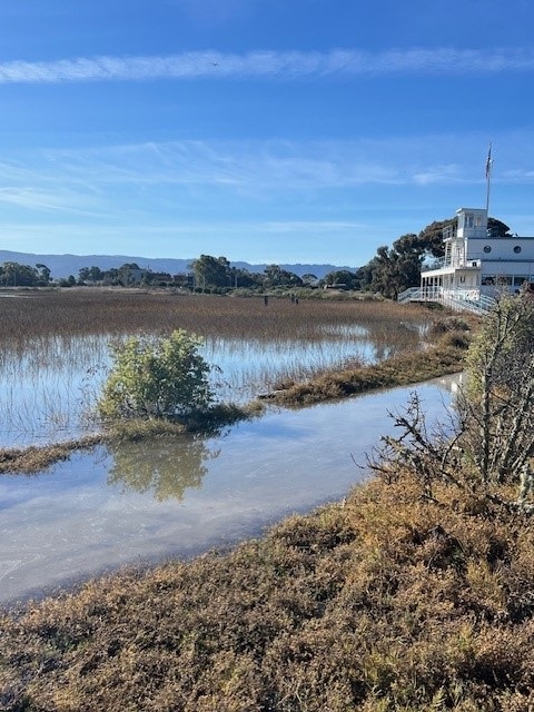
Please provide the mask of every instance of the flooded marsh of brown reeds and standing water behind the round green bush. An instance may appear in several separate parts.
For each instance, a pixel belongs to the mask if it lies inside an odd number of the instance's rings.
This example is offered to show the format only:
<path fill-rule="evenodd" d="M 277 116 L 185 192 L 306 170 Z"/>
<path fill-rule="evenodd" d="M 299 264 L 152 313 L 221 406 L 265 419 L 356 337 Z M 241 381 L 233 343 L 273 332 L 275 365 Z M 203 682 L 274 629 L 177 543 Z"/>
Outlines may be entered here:
<path fill-rule="evenodd" d="M 98 428 L 110 343 L 185 328 L 205 339 L 212 386 L 244 405 L 280 383 L 421 347 L 427 310 L 380 301 L 231 298 L 137 289 L 24 291 L 0 312 L 0 437 L 6 446 Z"/>

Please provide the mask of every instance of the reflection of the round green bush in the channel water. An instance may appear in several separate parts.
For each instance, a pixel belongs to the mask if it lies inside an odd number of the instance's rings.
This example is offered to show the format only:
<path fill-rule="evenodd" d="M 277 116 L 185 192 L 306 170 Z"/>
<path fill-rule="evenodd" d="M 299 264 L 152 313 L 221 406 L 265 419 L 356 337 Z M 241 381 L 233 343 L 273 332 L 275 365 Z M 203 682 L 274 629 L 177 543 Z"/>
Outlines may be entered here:
<path fill-rule="evenodd" d="M 148 443 L 109 444 L 113 464 L 108 484 L 122 483 L 125 491 L 154 490 L 159 502 L 175 497 L 181 501 L 187 487 L 200 487 L 207 473 L 205 462 L 218 457 L 201 439 L 159 439 Z"/>

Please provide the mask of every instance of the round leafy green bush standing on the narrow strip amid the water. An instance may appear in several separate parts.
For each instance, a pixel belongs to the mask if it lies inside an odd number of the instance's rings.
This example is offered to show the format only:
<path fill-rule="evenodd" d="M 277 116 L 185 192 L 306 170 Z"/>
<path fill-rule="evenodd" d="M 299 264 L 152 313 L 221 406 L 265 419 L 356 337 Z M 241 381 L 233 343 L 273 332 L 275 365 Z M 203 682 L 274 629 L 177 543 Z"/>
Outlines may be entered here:
<path fill-rule="evenodd" d="M 113 346 L 115 363 L 98 402 L 102 417 L 176 418 L 214 399 L 201 339 L 184 329 L 169 337 L 135 336 Z"/>

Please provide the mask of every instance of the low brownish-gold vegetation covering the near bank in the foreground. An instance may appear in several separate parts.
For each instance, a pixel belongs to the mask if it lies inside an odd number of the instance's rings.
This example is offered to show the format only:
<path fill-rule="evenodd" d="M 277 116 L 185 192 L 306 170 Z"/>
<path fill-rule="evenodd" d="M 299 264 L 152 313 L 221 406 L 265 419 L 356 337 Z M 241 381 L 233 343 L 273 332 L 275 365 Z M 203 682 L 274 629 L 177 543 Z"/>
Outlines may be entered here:
<path fill-rule="evenodd" d="M 533 709 L 532 521 L 397 474 L 229 554 L 6 612 L 1 709 Z"/>

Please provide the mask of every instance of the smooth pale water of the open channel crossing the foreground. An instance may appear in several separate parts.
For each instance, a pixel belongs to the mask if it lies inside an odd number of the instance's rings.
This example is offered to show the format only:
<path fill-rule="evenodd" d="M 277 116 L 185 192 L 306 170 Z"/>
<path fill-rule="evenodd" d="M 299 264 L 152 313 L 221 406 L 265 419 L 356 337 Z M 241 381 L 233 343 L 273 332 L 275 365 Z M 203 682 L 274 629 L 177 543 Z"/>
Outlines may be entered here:
<path fill-rule="evenodd" d="M 451 399 L 443 387 L 418 390 L 431 419 L 443 414 L 442 399 Z M 136 451 L 134 461 L 126 458 L 112 486 L 108 476 L 121 453 L 111 456 L 103 448 L 39 476 L 0 477 L 0 600 L 107 566 L 226 545 L 291 512 L 344 496 L 363 476 L 353 457 L 364 464 L 378 434 L 392 429 L 387 412 L 405 405 L 409 393 L 399 388 L 301 411 L 275 409 L 206 438 L 187 457 L 187 442 L 164 447 L 156 439 Z M 176 467 L 180 483 L 195 475 L 191 467 L 201 475 L 195 486 L 178 488 L 182 500 L 167 490 L 167 498 L 158 501 L 154 488 L 138 492 L 129 481 L 151 463 L 155 478 L 167 467 L 170 474 Z M 179 471 L 180 463 L 188 472 Z"/>

